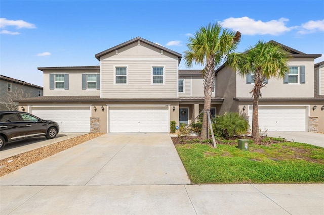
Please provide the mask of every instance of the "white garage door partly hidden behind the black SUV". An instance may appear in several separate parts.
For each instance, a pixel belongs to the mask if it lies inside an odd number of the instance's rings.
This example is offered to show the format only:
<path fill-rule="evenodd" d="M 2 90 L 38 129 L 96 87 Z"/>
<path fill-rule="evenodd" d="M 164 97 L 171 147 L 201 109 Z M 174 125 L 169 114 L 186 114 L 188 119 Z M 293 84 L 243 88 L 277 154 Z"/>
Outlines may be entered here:
<path fill-rule="evenodd" d="M 32 114 L 57 122 L 60 132 L 90 132 L 90 106 L 32 107 Z"/>

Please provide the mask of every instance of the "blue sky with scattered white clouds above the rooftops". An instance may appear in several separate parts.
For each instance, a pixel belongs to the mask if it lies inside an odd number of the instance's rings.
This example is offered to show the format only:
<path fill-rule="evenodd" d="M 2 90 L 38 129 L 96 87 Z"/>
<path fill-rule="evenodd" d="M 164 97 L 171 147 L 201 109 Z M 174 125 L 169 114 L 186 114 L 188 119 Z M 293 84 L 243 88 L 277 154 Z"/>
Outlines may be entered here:
<path fill-rule="evenodd" d="M 188 37 L 220 22 L 236 51 L 275 40 L 324 61 L 324 1 L 0 0 L 0 74 L 43 86 L 37 67 L 99 65 L 95 54 L 137 36 L 183 54 Z M 200 69 L 195 66 L 192 69 Z M 179 69 L 187 69 L 182 61 Z"/>

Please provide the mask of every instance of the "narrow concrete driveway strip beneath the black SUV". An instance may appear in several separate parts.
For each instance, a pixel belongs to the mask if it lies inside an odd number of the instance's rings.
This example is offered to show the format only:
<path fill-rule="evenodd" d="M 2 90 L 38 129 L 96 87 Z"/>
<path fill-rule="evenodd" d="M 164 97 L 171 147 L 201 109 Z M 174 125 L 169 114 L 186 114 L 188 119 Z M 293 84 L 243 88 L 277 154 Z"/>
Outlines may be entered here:
<path fill-rule="evenodd" d="M 24 153 L 36 148 L 41 148 L 73 137 L 81 136 L 87 133 L 58 133 L 56 138 L 47 139 L 45 136 L 32 137 L 25 140 L 18 140 L 7 143 L 0 151 L 0 159 L 5 159 L 17 154 Z"/>

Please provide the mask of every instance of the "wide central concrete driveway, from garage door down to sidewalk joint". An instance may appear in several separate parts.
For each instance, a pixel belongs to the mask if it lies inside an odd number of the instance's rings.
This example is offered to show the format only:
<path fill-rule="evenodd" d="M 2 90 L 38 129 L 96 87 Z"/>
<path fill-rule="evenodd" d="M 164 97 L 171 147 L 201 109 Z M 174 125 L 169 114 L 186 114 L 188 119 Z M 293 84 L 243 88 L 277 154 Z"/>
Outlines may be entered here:
<path fill-rule="evenodd" d="M 1 186 L 189 183 L 167 133 L 106 134 L 0 178 Z"/>

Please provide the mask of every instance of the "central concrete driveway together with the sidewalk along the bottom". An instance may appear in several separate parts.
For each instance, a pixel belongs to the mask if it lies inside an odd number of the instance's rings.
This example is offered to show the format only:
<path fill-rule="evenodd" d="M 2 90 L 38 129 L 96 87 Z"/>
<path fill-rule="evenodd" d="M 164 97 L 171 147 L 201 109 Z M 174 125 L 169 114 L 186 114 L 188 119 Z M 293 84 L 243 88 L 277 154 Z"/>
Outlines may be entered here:
<path fill-rule="evenodd" d="M 1 214 L 324 214 L 324 184 L 190 185 L 169 134 L 108 134 L 0 177 Z"/>

